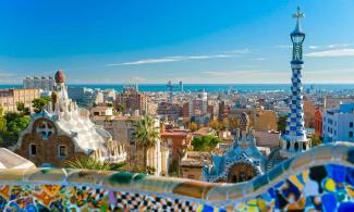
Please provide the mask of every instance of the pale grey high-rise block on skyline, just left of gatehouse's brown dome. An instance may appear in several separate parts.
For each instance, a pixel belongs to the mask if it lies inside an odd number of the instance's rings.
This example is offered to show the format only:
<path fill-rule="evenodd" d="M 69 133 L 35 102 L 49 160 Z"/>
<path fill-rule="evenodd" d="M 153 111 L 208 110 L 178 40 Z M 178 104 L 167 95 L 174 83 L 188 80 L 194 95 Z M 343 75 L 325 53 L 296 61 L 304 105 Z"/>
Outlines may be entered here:
<path fill-rule="evenodd" d="M 25 89 L 53 90 L 54 86 L 56 82 L 52 76 L 27 76 L 23 79 L 23 88 Z"/>

